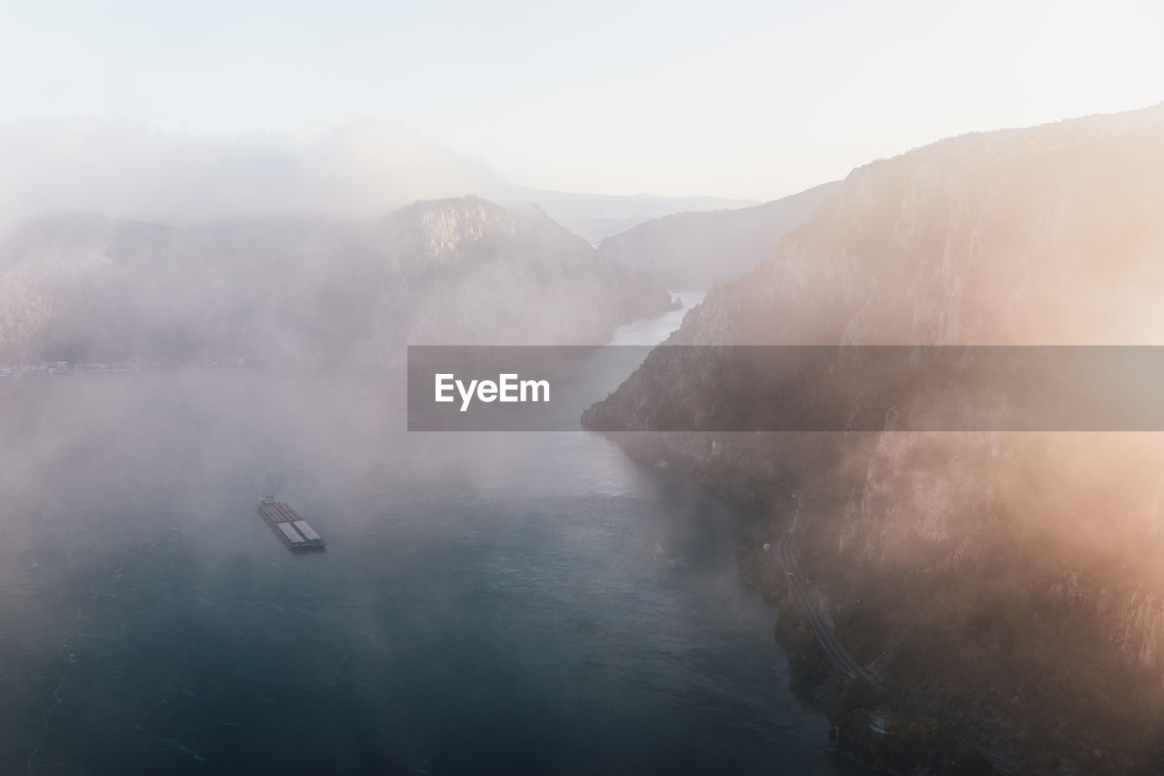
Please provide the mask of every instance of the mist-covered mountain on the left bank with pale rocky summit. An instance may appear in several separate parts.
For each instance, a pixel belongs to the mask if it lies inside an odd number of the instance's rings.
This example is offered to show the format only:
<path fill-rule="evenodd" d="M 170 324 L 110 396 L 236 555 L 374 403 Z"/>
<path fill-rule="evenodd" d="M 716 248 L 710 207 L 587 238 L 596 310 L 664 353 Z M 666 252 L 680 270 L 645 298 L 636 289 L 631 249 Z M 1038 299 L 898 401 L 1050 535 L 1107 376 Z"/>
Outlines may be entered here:
<path fill-rule="evenodd" d="M 596 343 L 666 309 L 544 213 L 466 197 L 378 221 L 191 228 L 90 214 L 0 242 L 0 359 L 398 359 L 405 343 Z"/>

